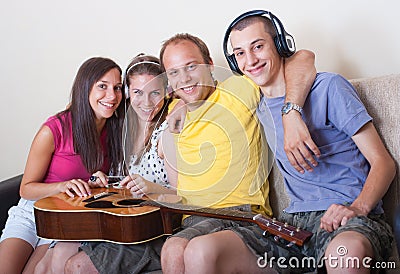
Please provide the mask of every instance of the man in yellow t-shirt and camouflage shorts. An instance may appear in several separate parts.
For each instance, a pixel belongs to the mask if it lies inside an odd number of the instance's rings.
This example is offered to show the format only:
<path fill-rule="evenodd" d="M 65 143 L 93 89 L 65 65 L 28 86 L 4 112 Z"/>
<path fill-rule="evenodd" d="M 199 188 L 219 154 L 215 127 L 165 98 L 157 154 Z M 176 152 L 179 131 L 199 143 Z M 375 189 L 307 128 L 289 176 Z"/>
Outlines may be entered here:
<path fill-rule="evenodd" d="M 174 136 L 178 194 L 191 205 L 271 215 L 268 150 L 255 114 L 260 100 L 258 88 L 238 76 L 216 84 L 207 46 L 189 34 L 167 40 L 160 59 L 172 89 L 188 111 L 182 131 Z M 166 157 L 168 161 L 170 156 Z M 186 248 L 210 242 L 218 245 L 229 241 L 244 260 L 255 262 L 251 243 L 260 235 L 254 234 L 254 226 L 198 216 L 186 218 L 184 229 L 164 244 L 163 272 L 184 271 L 184 254 L 191 250 Z M 252 263 L 246 270 L 259 268 Z"/>

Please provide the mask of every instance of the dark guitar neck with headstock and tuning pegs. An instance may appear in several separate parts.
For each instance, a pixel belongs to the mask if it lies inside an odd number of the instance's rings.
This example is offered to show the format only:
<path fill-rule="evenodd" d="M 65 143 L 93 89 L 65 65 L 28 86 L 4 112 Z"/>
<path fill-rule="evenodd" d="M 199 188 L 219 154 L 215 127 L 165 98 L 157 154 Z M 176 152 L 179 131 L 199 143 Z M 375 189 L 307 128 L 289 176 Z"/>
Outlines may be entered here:
<path fill-rule="evenodd" d="M 161 209 L 162 212 L 166 211 L 255 223 L 264 231 L 267 231 L 272 235 L 281 237 L 299 246 L 302 246 L 304 242 L 312 236 L 311 232 L 281 223 L 275 220 L 275 218 L 270 218 L 262 214 L 254 214 L 248 211 L 232 210 L 226 208 L 200 208 L 191 205 L 159 203 L 156 201 L 146 201 L 142 204 L 157 206 Z"/>

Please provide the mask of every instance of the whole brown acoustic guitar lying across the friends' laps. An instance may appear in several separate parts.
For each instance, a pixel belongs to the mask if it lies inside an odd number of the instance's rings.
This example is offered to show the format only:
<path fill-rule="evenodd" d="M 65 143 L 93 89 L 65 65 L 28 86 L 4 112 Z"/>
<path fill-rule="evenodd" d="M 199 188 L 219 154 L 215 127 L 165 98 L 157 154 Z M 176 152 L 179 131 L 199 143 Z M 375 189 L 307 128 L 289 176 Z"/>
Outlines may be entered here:
<path fill-rule="evenodd" d="M 70 198 L 64 193 L 35 202 L 39 237 L 63 241 L 108 241 L 137 244 L 179 229 L 182 215 L 198 215 L 257 224 L 266 233 L 303 245 L 312 233 L 251 212 L 200 208 L 180 204 L 175 195 L 132 198 L 126 189 L 93 189 L 89 198 Z M 261 236 L 261 235 L 260 235 Z"/>

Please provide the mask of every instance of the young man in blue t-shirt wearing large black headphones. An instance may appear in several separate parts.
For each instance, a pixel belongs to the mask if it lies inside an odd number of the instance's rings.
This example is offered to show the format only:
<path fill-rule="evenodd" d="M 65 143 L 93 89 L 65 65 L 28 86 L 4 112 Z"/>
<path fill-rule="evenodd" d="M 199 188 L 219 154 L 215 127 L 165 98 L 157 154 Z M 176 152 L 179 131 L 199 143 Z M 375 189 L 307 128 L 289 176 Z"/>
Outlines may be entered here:
<path fill-rule="evenodd" d="M 302 108 L 284 104 L 283 62 L 294 41 L 280 21 L 270 12 L 251 11 L 234 20 L 227 36 L 233 50 L 228 54 L 224 45 L 230 67 L 260 87 L 257 115 L 267 140 L 276 134 L 275 157 L 290 197 L 282 221 L 314 233 L 302 248 L 263 238 L 265 252 L 287 261 L 313 258 L 312 268 L 322 266 L 328 273 L 368 273 L 374 260 L 390 255 L 393 235 L 381 199 L 395 166 L 356 91 L 340 75 L 318 73 Z M 299 173 L 285 154 L 281 119 L 292 109 L 321 151 L 312 173 Z M 299 262 L 294 268 L 305 267 Z"/>

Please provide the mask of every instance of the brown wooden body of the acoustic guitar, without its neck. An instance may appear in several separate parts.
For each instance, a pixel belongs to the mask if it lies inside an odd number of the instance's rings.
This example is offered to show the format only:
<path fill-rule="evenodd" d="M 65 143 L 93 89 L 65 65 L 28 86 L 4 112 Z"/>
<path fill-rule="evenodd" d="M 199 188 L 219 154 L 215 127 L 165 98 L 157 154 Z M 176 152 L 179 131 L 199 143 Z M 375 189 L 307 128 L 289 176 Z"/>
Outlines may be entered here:
<path fill-rule="evenodd" d="M 34 204 L 38 236 L 64 241 L 137 244 L 170 235 L 180 227 L 182 214 L 162 216 L 155 206 L 119 206 L 118 201 L 132 200 L 130 193 L 124 193 L 125 189 L 92 191 L 94 195 L 113 194 L 90 202 L 64 193 L 38 200 Z"/>

